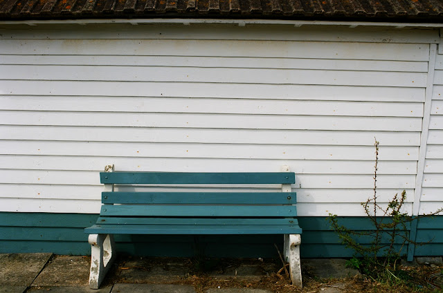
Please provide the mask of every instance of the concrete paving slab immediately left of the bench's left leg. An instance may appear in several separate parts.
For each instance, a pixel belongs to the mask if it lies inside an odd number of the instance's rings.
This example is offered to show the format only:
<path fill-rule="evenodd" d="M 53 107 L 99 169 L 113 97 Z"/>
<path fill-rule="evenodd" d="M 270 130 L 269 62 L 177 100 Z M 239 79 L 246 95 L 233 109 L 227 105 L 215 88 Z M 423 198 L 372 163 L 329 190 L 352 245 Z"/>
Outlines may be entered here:
<path fill-rule="evenodd" d="M 55 256 L 35 279 L 33 286 L 86 286 L 90 266 L 90 256 Z"/>

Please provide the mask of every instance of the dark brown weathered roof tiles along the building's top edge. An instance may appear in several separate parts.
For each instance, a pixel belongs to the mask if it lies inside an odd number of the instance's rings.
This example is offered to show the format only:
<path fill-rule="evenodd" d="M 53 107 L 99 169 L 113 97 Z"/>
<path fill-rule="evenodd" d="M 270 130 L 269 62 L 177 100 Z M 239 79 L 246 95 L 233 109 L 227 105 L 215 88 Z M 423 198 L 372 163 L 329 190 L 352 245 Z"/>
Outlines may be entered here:
<path fill-rule="evenodd" d="M 443 22 L 443 0 L 0 0 L 2 20 L 257 18 Z"/>

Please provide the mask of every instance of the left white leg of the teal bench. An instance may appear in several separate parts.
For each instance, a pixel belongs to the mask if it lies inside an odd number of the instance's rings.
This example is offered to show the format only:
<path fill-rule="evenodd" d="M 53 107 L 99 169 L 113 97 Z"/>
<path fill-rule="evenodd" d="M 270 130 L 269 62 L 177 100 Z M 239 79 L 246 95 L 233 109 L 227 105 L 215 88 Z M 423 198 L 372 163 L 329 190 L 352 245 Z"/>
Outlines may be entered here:
<path fill-rule="evenodd" d="M 111 234 L 91 234 L 88 238 L 91 244 L 91 274 L 89 287 L 98 289 L 103 278 L 116 258 L 114 236 Z"/>

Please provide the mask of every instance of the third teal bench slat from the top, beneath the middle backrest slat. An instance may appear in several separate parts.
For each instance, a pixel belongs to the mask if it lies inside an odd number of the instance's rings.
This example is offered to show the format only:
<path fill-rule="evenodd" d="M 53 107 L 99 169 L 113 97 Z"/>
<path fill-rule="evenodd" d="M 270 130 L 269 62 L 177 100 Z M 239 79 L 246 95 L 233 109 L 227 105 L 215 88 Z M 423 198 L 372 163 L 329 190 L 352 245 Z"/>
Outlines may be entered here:
<path fill-rule="evenodd" d="M 101 216 L 295 217 L 296 206 L 102 205 Z"/>

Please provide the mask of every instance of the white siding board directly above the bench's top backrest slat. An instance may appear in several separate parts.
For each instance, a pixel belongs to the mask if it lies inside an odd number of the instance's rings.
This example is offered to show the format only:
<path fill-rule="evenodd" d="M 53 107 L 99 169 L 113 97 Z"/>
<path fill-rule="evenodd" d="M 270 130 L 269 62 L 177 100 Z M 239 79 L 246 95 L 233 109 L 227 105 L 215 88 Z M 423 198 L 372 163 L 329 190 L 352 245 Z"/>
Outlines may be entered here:
<path fill-rule="evenodd" d="M 102 156 L 62 155 L 0 155 L 0 169 L 102 171 L 104 166 L 114 164 L 120 171 L 175 171 L 230 172 L 233 169 L 247 172 L 278 170 L 287 164 L 298 174 L 365 174 L 374 173 L 374 162 L 368 160 L 269 160 L 233 158 L 130 158 Z M 415 161 L 380 161 L 379 174 L 415 174 Z"/>

